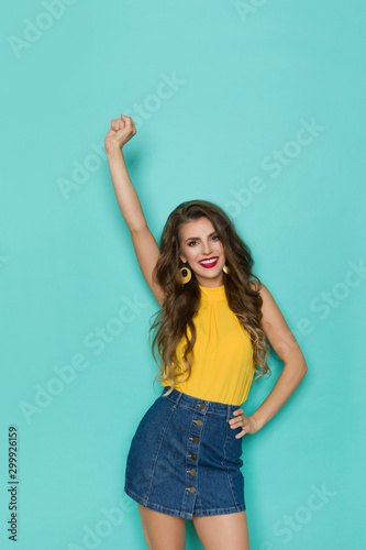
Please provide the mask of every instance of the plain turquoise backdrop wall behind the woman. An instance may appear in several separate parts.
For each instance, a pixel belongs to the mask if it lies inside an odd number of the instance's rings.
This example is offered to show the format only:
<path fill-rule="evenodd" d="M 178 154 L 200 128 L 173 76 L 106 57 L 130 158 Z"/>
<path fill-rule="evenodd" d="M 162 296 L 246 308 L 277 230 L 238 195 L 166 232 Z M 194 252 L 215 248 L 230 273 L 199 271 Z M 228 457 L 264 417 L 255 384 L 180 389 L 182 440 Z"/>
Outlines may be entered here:
<path fill-rule="evenodd" d="M 223 206 L 307 359 L 292 397 L 243 439 L 251 549 L 365 548 L 365 19 L 361 0 L 8 4 L 1 548 L 14 548 L 10 426 L 19 550 L 145 548 L 123 483 L 160 392 L 147 342 L 157 304 L 103 154 L 121 113 L 138 129 L 125 158 L 156 239 L 182 200 Z M 247 415 L 282 363 L 273 353 L 269 365 Z M 199 548 L 187 521 L 187 549 Z"/>

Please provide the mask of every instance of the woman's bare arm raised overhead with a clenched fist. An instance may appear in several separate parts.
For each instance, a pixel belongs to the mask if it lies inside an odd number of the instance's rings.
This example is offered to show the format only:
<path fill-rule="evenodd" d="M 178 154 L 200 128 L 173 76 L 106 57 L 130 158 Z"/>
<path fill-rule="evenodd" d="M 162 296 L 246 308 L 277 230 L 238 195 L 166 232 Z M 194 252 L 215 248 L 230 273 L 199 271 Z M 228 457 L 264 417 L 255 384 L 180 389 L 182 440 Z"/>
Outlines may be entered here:
<path fill-rule="evenodd" d="M 160 251 L 153 233 L 147 227 L 137 193 L 132 185 L 122 154 L 123 145 L 135 133 L 136 129 L 132 118 L 121 114 L 121 119 L 111 120 L 111 129 L 106 135 L 104 147 L 115 197 L 124 221 L 131 231 L 140 268 L 153 295 L 159 305 L 162 305 L 164 301 L 164 292 L 153 280 L 153 270 L 160 255 Z"/>

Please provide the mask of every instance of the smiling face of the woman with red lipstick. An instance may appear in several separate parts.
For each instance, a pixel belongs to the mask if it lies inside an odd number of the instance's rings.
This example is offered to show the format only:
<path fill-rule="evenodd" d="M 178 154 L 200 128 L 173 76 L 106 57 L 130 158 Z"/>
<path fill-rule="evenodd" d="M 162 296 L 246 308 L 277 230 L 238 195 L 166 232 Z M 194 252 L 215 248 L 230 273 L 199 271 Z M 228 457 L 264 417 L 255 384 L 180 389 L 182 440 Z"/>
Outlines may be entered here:
<path fill-rule="evenodd" d="M 188 221 L 179 231 L 180 260 L 188 262 L 198 284 L 215 287 L 223 285 L 224 249 L 208 218 Z"/>

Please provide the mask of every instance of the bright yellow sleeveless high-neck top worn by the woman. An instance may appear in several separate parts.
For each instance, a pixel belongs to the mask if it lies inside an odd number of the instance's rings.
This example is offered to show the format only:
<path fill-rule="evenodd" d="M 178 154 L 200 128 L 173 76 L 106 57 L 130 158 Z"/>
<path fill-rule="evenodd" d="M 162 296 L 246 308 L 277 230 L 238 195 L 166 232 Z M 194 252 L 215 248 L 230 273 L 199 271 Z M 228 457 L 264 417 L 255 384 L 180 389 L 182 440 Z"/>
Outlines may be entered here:
<path fill-rule="evenodd" d="M 188 381 L 179 382 L 178 378 L 176 389 L 200 399 L 240 406 L 247 398 L 255 371 L 251 337 L 230 309 L 224 285 L 200 286 L 200 289 L 201 304 L 193 317 L 197 330 L 195 362 Z M 191 336 L 189 329 L 188 336 Z M 176 350 L 184 367 L 185 345 L 182 338 Z M 186 377 L 184 373 L 181 380 Z M 168 381 L 162 384 L 171 385 Z"/>

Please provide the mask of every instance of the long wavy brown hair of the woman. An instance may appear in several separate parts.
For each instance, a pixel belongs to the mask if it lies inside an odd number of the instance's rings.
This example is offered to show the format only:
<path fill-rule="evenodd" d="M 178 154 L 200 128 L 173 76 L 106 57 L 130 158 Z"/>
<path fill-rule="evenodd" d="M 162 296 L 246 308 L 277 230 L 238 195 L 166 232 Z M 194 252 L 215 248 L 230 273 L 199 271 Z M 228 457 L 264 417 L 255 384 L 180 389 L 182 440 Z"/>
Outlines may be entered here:
<path fill-rule="evenodd" d="M 160 238 L 160 256 L 153 273 L 154 280 L 165 293 L 165 300 L 160 309 L 152 316 L 149 342 L 154 360 L 159 367 L 154 383 L 156 381 L 171 383 L 171 388 L 166 395 L 173 392 L 176 382 L 185 374 L 186 380 L 189 378 L 193 364 L 197 334 L 192 319 L 200 306 L 201 290 L 193 271 L 188 284 L 181 282 L 180 268 L 185 264 L 179 257 L 179 230 L 184 223 L 200 218 L 211 221 L 222 242 L 229 267 L 229 274 L 224 274 L 228 304 L 251 337 L 256 377 L 267 372 L 268 375 L 271 374 L 266 362 L 269 346 L 260 328 L 263 300 L 259 292 L 251 284 L 256 280 L 260 285 L 260 280 L 252 273 L 254 260 L 249 246 L 239 237 L 232 221 L 219 206 L 206 200 L 190 200 L 179 205 L 169 215 Z M 155 336 L 152 338 L 154 331 Z M 186 364 L 181 365 L 176 349 L 184 337 Z M 259 371 L 256 367 L 259 367 Z"/>

